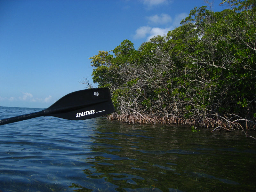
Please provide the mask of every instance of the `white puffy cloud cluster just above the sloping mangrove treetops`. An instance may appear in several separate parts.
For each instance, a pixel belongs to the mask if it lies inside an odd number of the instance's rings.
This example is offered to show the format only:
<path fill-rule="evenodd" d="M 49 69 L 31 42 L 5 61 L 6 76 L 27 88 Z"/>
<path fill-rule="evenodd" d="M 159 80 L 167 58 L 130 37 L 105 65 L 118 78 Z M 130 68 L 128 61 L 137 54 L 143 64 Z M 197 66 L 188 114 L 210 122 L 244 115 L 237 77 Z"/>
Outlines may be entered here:
<path fill-rule="evenodd" d="M 156 24 L 167 24 L 165 28 L 159 28 L 159 27 L 150 27 L 150 26 L 141 26 L 135 31 L 135 35 L 133 36 L 134 39 L 146 39 L 146 41 L 149 41 L 154 36 L 164 36 L 169 31 L 173 30 L 175 27 L 180 26 L 180 21 L 182 19 L 185 19 L 188 16 L 187 13 L 180 13 L 175 16 L 175 18 L 172 20 L 171 16 L 167 14 L 161 14 L 159 15 L 153 15 L 150 17 L 147 17 L 148 22 L 152 23 L 152 25 Z"/>

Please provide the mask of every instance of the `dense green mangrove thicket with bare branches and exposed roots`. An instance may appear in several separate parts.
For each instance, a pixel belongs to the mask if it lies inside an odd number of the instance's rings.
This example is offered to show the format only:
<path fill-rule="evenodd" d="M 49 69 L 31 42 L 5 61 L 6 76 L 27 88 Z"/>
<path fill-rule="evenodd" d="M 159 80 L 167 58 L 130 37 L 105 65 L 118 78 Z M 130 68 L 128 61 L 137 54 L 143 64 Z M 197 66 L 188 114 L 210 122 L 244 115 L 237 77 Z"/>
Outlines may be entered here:
<path fill-rule="evenodd" d="M 124 40 L 89 58 L 93 82 L 112 94 L 108 120 L 256 130 L 256 3 L 221 5 L 221 12 L 195 7 L 138 50 Z"/>

